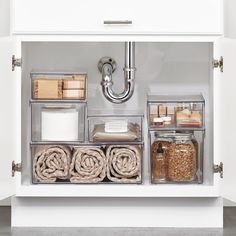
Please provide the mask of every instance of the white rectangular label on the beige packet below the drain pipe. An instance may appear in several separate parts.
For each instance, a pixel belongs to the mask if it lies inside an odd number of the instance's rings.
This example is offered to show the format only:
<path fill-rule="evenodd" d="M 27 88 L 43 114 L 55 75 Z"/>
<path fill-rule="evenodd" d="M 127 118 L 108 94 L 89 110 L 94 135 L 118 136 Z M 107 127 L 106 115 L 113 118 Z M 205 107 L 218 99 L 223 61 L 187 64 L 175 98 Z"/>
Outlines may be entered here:
<path fill-rule="evenodd" d="M 127 120 L 114 120 L 105 123 L 106 133 L 125 133 L 128 131 Z"/>

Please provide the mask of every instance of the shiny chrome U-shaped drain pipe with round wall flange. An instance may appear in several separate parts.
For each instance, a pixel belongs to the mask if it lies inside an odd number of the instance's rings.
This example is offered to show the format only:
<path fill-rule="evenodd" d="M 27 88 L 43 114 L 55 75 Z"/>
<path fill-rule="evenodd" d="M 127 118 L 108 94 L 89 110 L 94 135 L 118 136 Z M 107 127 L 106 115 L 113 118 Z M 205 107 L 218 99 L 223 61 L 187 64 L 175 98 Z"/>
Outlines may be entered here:
<path fill-rule="evenodd" d="M 125 43 L 124 91 L 117 94 L 113 91 L 112 73 L 116 69 L 116 62 L 110 57 L 103 57 L 98 62 L 98 69 L 102 73 L 102 91 L 104 96 L 113 103 L 128 101 L 134 93 L 135 79 L 135 43 Z"/>

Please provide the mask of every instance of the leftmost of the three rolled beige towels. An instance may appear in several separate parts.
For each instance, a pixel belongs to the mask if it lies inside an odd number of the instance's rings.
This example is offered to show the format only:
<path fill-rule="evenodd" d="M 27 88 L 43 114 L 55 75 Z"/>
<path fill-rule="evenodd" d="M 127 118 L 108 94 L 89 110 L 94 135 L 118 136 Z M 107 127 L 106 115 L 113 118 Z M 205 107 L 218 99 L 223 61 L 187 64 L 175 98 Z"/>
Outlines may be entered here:
<path fill-rule="evenodd" d="M 69 179 L 71 150 L 66 146 L 37 146 L 33 157 L 33 176 L 37 182 L 53 183 Z"/>

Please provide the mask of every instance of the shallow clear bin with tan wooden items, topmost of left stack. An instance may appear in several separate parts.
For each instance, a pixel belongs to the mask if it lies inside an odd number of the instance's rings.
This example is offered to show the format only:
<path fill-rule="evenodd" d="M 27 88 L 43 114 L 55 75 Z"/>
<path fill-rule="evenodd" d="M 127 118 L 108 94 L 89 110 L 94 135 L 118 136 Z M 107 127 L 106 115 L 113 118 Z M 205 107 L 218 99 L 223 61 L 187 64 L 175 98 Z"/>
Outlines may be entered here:
<path fill-rule="evenodd" d="M 33 100 L 79 100 L 87 97 L 85 73 L 31 73 Z"/>

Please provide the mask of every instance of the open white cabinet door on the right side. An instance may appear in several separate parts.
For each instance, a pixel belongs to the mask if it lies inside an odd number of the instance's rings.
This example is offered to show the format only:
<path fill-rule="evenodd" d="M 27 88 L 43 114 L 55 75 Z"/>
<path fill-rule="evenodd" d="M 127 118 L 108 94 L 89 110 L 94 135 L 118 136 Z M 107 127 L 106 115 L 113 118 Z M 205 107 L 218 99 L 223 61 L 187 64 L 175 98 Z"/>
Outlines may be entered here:
<path fill-rule="evenodd" d="M 214 155 L 215 164 L 224 165 L 220 194 L 236 202 L 236 40 L 217 42 L 214 57 L 220 56 L 223 72 L 214 71 Z"/>

